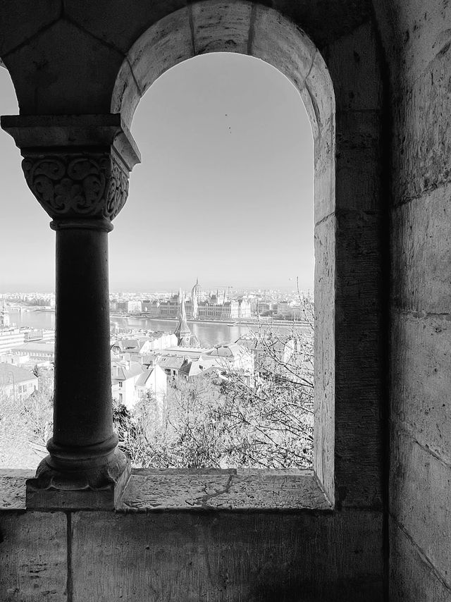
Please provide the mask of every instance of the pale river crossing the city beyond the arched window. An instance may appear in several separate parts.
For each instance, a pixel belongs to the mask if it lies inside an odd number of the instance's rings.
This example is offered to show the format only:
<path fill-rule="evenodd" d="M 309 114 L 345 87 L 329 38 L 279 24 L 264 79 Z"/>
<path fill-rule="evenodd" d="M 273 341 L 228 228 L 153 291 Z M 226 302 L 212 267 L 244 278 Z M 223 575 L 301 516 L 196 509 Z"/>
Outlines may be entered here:
<path fill-rule="evenodd" d="M 11 324 L 16 326 L 32 326 L 33 328 L 55 328 L 54 312 L 39 312 L 32 311 L 11 311 L 9 312 Z M 146 318 L 111 318 L 111 325 L 117 324 L 118 328 L 143 329 L 152 331 L 173 332 L 177 326 L 177 320 L 159 320 Z M 257 329 L 257 326 L 246 326 L 245 324 L 237 324 L 228 326 L 228 324 L 217 322 L 192 322 L 188 321 L 193 334 L 197 336 L 203 347 L 211 347 L 221 343 L 233 343 L 235 340 L 245 334 L 248 334 L 251 329 Z M 276 330 L 280 333 L 288 332 L 291 328 L 288 326 L 276 326 Z"/>

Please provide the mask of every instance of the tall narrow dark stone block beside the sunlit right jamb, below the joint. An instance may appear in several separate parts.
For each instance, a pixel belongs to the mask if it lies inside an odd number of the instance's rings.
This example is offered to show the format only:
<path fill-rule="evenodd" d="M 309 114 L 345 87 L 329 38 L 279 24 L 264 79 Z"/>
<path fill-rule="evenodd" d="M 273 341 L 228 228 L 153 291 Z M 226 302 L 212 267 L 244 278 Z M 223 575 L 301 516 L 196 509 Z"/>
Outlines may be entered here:
<path fill-rule="evenodd" d="M 335 495 L 371 508 L 381 508 L 383 491 L 380 222 L 340 212 L 335 250 Z"/>

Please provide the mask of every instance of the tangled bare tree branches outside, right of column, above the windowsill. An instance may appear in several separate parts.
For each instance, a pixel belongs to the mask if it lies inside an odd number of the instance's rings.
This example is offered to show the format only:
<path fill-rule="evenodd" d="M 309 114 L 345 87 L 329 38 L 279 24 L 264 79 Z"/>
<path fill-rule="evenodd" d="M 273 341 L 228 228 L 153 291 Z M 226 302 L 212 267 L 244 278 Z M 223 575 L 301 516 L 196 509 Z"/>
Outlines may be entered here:
<path fill-rule="evenodd" d="M 313 307 L 302 328 L 260 324 L 247 339 L 255 371 L 224 358 L 221 374 L 174 379 L 164 400 L 116 405 L 121 445 L 140 467 L 310 467 Z M 221 363 L 221 362 L 220 362 Z"/>

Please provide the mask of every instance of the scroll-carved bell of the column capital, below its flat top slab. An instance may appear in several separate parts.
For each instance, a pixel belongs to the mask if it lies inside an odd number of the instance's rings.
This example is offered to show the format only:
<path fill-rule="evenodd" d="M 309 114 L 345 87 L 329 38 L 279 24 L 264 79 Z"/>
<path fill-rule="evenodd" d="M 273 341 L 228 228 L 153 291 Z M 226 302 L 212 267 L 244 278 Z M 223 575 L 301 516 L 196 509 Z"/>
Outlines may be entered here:
<path fill-rule="evenodd" d="M 128 173 L 113 154 L 25 155 L 27 185 L 52 218 L 113 219 L 128 195 Z"/>

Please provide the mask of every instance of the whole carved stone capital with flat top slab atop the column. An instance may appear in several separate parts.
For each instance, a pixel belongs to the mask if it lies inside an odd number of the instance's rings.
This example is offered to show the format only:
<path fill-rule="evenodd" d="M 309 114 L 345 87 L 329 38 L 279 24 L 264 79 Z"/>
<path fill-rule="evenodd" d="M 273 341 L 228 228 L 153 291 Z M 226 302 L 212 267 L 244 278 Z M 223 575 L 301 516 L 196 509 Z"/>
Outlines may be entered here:
<path fill-rule="evenodd" d="M 27 184 L 56 220 L 112 220 L 140 152 L 118 114 L 2 116 Z"/>

